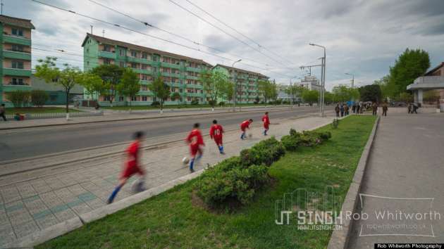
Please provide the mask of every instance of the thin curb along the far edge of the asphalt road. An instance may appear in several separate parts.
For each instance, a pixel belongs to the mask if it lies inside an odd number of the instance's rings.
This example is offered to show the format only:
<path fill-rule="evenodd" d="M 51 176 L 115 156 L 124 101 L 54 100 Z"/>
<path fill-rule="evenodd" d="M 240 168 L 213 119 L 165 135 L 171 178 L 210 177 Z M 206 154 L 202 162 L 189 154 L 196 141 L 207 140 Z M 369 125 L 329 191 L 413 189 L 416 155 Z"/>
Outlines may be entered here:
<path fill-rule="evenodd" d="M 268 110 L 267 108 L 266 110 Z M 276 108 L 274 110 L 292 110 L 292 108 Z M 119 122 L 119 121 L 129 121 L 129 120 L 155 120 L 159 118 L 167 118 L 167 117 L 192 117 L 192 116 L 200 116 L 200 115 L 218 115 L 218 114 L 227 114 L 227 113 L 247 113 L 247 112 L 262 112 L 262 110 L 240 110 L 240 111 L 228 111 L 221 113 L 196 113 L 196 114 L 185 114 L 185 115 L 169 115 L 169 116 L 161 116 L 161 117 L 135 117 L 135 118 L 123 118 L 120 120 L 97 120 L 97 121 L 87 121 L 87 122 L 76 122 L 76 123 L 66 123 L 66 124 L 50 124 L 50 125 L 35 125 L 35 126 L 27 126 L 27 127 L 7 127 L 0 128 L 0 131 L 4 130 L 12 130 L 12 129 L 30 129 L 30 128 L 38 128 L 38 127 L 54 127 L 54 126 L 62 126 L 62 125 L 82 125 L 82 124 L 92 124 L 92 123 L 104 123 L 104 122 Z"/>

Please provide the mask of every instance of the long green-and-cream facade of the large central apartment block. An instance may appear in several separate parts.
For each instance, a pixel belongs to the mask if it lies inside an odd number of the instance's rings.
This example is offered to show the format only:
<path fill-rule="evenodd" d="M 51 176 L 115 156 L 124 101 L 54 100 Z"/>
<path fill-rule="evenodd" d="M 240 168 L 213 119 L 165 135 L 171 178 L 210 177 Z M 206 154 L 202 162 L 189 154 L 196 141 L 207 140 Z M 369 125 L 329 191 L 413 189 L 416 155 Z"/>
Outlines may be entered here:
<path fill-rule="evenodd" d="M 211 65 L 204 60 L 180 56 L 175 53 L 159 51 L 145 46 L 138 46 L 123 41 L 99 37 L 87 34 L 83 43 L 83 57 L 85 71 L 102 64 L 114 64 L 125 68 L 131 68 L 140 77 L 140 91 L 132 99 L 123 96 L 116 97 L 116 105 L 128 103 L 132 105 L 146 106 L 156 101 L 155 96 L 149 91 L 149 84 L 158 75 L 161 75 L 172 92 L 178 92 L 181 96 L 180 103 L 207 103 L 208 98 L 204 93 L 199 75 L 203 70 L 211 70 Z M 105 96 L 87 96 L 85 99 L 94 99 L 101 105 L 108 105 Z M 168 98 L 166 104 L 177 104 Z"/>

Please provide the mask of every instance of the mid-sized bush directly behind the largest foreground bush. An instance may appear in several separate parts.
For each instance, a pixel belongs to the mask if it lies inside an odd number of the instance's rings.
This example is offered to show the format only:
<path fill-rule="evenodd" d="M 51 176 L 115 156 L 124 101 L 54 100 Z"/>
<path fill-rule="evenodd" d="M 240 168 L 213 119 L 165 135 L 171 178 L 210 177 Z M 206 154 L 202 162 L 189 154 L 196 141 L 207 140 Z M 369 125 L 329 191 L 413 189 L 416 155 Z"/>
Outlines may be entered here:
<path fill-rule="evenodd" d="M 260 141 L 255 146 L 240 152 L 240 159 L 244 165 L 270 166 L 285 154 L 285 148 L 274 137 Z"/>

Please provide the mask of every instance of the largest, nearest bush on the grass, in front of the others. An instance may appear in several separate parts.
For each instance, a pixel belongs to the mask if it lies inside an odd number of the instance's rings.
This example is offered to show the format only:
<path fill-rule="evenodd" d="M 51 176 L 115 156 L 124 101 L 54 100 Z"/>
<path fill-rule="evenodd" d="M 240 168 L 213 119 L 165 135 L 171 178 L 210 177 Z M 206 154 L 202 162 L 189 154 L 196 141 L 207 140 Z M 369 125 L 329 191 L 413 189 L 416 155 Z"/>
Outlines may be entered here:
<path fill-rule="evenodd" d="M 247 168 L 233 167 L 224 172 L 209 169 L 205 177 L 197 182 L 197 196 L 202 198 L 206 205 L 216 207 L 223 203 L 249 203 L 257 189 L 260 189 L 269 177 L 264 165 L 251 165 Z"/>

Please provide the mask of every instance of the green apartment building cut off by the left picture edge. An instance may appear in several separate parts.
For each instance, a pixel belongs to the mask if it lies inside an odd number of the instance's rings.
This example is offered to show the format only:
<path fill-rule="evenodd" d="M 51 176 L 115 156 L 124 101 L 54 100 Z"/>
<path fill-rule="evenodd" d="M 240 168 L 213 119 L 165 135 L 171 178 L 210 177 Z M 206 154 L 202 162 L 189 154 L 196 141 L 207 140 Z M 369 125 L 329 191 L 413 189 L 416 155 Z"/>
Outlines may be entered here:
<path fill-rule="evenodd" d="M 8 92 L 30 91 L 31 84 L 31 20 L 0 15 L 0 103 L 8 101 Z"/>

